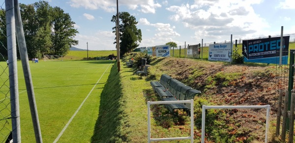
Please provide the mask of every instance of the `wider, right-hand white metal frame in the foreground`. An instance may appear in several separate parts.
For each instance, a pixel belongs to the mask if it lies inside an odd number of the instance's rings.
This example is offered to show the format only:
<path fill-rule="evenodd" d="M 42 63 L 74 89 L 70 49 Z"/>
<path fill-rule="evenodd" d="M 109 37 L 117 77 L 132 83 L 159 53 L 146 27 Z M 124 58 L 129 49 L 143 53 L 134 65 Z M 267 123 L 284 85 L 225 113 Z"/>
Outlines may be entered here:
<path fill-rule="evenodd" d="M 263 105 L 263 106 L 202 106 L 202 141 L 201 143 L 205 142 L 205 113 L 206 109 L 266 109 L 266 139 L 265 143 L 267 143 L 267 134 L 268 134 L 268 127 L 269 127 L 269 112 L 270 112 L 270 105 Z"/>

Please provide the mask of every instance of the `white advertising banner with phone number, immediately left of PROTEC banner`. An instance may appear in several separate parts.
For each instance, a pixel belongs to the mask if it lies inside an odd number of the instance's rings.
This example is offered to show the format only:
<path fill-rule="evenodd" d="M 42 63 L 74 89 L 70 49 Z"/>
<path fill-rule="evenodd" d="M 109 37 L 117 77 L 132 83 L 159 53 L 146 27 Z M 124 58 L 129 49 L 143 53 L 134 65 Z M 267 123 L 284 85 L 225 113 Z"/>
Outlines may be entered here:
<path fill-rule="evenodd" d="M 231 58 L 232 58 L 231 43 L 209 45 L 208 60 L 231 62 Z"/>

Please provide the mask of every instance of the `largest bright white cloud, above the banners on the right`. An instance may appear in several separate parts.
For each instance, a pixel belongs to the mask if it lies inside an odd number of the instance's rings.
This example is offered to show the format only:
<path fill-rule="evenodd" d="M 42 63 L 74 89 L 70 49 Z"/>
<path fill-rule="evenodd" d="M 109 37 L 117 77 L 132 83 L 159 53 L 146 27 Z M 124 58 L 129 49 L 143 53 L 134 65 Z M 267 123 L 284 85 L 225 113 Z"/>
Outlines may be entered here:
<path fill-rule="evenodd" d="M 269 27 L 252 5 L 262 0 L 195 0 L 192 5 L 170 6 L 170 20 L 195 30 L 194 38 L 221 38 L 229 34 L 246 37 Z"/>

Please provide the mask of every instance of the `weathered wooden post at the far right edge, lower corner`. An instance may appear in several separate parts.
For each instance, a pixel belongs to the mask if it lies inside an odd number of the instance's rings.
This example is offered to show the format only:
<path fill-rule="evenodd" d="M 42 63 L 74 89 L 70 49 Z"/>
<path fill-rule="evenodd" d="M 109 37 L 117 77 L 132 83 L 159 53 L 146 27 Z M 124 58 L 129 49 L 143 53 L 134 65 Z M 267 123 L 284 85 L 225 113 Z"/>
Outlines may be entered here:
<path fill-rule="evenodd" d="M 294 89 L 292 90 L 291 94 L 291 108 L 290 108 L 290 126 L 289 126 L 289 141 L 288 143 L 293 143 L 293 136 L 294 136 L 294 109 L 295 108 L 295 93 Z"/>

